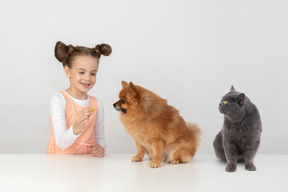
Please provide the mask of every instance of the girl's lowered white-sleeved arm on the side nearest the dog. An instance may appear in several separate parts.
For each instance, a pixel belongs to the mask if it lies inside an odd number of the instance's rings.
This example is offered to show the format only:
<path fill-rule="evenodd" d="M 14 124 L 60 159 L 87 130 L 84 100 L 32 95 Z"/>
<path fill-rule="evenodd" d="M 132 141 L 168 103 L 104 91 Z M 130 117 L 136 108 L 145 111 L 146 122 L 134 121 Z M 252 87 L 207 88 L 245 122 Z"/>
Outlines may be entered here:
<path fill-rule="evenodd" d="M 104 106 L 101 100 L 98 101 L 98 117 L 95 123 L 95 142 L 106 150 L 106 141 L 104 133 Z"/>

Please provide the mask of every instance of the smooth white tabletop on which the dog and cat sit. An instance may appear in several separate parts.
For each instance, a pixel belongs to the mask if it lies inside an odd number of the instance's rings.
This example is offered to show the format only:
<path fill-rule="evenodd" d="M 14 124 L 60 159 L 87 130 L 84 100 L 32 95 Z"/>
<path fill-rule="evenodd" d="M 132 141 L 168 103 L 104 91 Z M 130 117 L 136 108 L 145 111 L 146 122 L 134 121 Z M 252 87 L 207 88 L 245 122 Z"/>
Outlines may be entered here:
<path fill-rule="evenodd" d="M 132 163 L 132 154 L 89 155 L 0 154 L 0 191 L 160 192 L 288 191 L 288 155 L 261 155 L 257 171 L 238 164 L 234 173 L 213 154 L 196 154 L 186 164 Z"/>

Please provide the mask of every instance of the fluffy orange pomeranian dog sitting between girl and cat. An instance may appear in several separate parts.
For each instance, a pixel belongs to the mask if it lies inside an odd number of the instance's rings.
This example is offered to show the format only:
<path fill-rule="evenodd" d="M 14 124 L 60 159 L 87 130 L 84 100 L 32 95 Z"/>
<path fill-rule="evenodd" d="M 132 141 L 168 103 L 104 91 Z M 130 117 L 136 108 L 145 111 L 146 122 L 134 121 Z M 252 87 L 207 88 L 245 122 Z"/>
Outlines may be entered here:
<path fill-rule="evenodd" d="M 196 124 L 185 122 L 166 99 L 132 82 L 122 81 L 119 101 L 113 106 L 121 111 L 120 119 L 136 141 L 137 154 L 133 162 L 142 161 L 146 153 L 152 160 L 150 167 L 156 168 L 161 161 L 185 163 L 195 155 L 200 129 Z"/>

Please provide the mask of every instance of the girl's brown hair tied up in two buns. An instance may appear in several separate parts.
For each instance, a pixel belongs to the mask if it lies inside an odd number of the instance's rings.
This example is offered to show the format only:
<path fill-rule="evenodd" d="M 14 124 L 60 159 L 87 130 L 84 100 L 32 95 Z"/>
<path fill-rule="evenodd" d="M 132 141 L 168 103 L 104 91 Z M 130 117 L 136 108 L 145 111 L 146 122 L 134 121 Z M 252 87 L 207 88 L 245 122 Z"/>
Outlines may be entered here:
<path fill-rule="evenodd" d="M 109 56 L 112 52 L 112 48 L 108 44 L 99 44 L 94 48 L 82 47 L 82 46 L 72 46 L 65 45 L 61 41 L 58 41 L 55 45 L 55 57 L 58 61 L 60 61 L 64 66 L 72 67 L 72 61 L 75 57 L 80 55 L 87 55 L 91 57 L 95 57 L 98 60 L 101 55 Z"/>

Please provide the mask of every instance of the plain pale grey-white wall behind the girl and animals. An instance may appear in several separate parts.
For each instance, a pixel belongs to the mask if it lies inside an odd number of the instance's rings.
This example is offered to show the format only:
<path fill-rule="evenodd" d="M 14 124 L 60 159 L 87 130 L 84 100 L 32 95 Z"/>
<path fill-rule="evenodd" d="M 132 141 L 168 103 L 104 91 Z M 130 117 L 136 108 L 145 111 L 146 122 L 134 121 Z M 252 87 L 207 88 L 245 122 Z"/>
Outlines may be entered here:
<path fill-rule="evenodd" d="M 288 153 L 286 0 L 1 0 L 0 153 L 45 153 L 49 99 L 68 88 L 56 41 L 108 43 L 89 94 L 105 106 L 107 153 L 135 144 L 112 104 L 121 80 L 168 99 L 203 131 L 199 153 L 213 153 L 233 84 L 258 107 L 260 153 Z"/>

